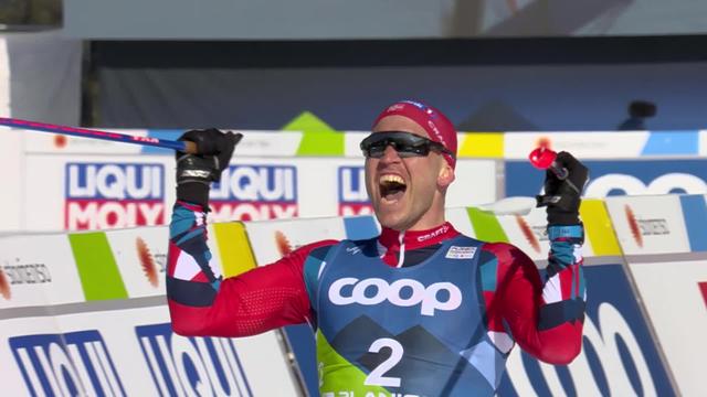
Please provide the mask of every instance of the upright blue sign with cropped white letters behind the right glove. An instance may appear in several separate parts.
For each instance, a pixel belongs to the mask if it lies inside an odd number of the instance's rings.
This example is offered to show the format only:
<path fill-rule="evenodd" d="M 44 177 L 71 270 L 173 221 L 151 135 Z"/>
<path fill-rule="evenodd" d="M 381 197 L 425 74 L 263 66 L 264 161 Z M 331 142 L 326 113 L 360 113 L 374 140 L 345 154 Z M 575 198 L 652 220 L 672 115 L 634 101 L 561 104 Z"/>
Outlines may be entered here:
<path fill-rule="evenodd" d="M 580 158 L 581 159 L 581 158 Z M 582 161 L 590 170 L 587 197 L 707 193 L 707 160 Z M 506 162 L 506 195 L 540 192 L 545 172 L 527 161 Z"/>

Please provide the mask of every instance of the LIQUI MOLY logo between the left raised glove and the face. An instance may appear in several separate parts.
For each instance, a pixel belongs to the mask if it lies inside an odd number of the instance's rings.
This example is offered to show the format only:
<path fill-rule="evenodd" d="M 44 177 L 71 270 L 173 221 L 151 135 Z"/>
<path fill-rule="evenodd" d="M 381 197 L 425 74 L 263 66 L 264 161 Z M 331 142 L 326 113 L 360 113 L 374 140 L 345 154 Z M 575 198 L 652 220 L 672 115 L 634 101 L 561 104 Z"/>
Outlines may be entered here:
<path fill-rule="evenodd" d="M 297 216 L 297 170 L 292 165 L 231 165 L 211 187 L 212 221 Z"/>

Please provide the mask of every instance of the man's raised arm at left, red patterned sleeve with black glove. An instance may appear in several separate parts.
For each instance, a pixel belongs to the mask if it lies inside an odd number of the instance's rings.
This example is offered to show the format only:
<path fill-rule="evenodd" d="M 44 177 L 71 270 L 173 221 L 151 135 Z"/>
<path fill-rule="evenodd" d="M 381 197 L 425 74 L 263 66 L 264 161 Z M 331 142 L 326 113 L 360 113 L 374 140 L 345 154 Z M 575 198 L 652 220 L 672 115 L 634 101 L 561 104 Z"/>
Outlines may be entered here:
<path fill-rule="evenodd" d="M 177 154 L 177 203 L 170 223 L 167 299 L 172 329 L 192 336 L 246 336 L 309 321 L 303 266 L 320 242 L 281 260 L 223 279 L 207 246 L 209 184 L 228 167 L 239 135 L 189 131 L 200 155 Z"/>

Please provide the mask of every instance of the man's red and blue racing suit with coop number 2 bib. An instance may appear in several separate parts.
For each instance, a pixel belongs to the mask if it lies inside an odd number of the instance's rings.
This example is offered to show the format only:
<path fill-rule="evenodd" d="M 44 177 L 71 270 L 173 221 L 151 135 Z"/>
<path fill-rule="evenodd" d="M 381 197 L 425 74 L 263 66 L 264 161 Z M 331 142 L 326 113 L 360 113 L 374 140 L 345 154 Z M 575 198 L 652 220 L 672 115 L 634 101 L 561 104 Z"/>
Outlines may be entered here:
<path fill-rule="evenodd" d="M 223 279 L 211 264 L 203 208 L 177 202 L 167 271 L 172 328 L 246 336 L 309 323 L 323 396 L 490 396 L 516 343 L 551 364 L 580 352 L 583 229 L 550 226 L 548 235 L 544 280 L 518 248 L 475 240 L 450 223 L 321 240 Z"/>

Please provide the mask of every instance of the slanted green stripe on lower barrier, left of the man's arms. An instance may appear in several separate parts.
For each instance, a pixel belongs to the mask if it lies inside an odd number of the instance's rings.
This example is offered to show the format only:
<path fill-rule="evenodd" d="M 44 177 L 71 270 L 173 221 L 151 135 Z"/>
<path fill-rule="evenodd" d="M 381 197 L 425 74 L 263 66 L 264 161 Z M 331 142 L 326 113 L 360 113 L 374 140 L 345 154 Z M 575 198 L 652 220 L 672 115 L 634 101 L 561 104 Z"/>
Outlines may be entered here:
<path fill-rule="evenodd" d="M 70 234 L 68 243 L 86 301 L 128 298 L 105 233 Z"/>

